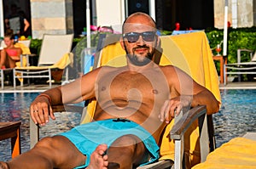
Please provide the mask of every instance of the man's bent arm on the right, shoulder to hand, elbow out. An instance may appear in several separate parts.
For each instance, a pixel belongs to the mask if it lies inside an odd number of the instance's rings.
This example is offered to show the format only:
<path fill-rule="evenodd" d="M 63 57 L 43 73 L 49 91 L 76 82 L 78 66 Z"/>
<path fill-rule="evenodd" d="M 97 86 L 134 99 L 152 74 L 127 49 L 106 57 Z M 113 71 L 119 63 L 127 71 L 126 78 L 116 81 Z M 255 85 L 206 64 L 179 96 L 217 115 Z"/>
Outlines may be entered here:
<path fill-rule="evenodd" d="M 206 87 L 202 87 L 183 70 L 173 66 L 168 66 L 163 71 L 169 82 L 171 99 L 166 100 L 161 109 L 161 121 L 169 122 L 175 113 L 178 114 L 186 106 L 204 104 L 207 105 L 208 115 L 218 112 L 218 100 Z"/>

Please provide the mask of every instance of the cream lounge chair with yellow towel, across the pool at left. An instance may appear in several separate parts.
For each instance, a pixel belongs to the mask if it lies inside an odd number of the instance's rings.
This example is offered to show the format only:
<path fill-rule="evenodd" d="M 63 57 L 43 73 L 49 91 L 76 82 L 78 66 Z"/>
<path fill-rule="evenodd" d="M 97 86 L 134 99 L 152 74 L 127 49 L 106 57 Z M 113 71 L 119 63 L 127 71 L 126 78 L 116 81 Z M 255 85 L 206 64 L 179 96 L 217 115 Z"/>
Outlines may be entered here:
<path fill-rule="evenodd" d="M 44 35 L 38 58 L 38 66 L 17 66 L 14 69 L 14 87 L 16 79 L 20 79 L 23 86 L 24 78 L 48 78 L 51 87 L 52 70 L 63 70 L 70 64 L 70 51 L 73 43 L 73 34 Z M 62 76 L 62 71 L 60 72 Z"/>

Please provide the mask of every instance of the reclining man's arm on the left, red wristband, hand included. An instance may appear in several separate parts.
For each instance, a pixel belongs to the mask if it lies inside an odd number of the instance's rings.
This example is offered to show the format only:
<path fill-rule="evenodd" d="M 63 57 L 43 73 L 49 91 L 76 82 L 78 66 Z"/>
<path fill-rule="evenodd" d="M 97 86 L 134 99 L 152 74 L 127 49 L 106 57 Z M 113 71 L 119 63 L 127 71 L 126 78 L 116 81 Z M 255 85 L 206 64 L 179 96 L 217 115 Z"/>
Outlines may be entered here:
<path fill-rule="evenodd" d="M 38 95 L 30 106 L 32 120 L 36 124 L 44 125 L 55 115 L 51 105 L 79 103 L 85 99 L 95 97 L 95 82 L 98 70 L 94 70 L 74 82 L 60 87 L 51 88 Z"/>

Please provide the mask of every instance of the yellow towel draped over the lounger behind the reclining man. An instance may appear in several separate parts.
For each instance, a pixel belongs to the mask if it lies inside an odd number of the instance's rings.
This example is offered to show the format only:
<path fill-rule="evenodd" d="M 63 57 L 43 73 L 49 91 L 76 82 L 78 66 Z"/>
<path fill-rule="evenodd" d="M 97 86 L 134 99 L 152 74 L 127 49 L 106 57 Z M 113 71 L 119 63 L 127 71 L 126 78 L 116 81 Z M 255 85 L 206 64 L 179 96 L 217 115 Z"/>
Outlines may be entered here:
<path fill-rule="evenodd" d="M 123 66 L 126 64 L 125 51 L 121 48 L 118 38 L 116 42 L 108 44 L 102 48 L 99 57 L 96 57 L 96 66 L 113 65 Z M 212 51 L 208 44 L 205 32 L 199 31 L 189 34 L 177 36 L 160 37 L 161 48 L 163 54 L 156 57 L 155 62 L 160 62 L 160 65 L 176 65 L 180 69 L 192 76 L 196 82 L 207 87 L 221 103 L 220 93 L 218 88 L 218 74 L 215 68 Z M 87 107 L 87 113 L 82 119 L 82 123 L 92 120 L 96 101 L 93 100 Z M 160 155 L 162 159 L 173 159 L 174 144 L 170 143 L 169 131 L 173 125 L 173 121 L 168 127 L 160 146 Z M 189 137 L 193 138 L 194 142 L 188 143 L 192 149 L 192 153 L 200 152 L 196 145 L 198 139 L 198 127 L 190 128 L 192 133 Z"/>

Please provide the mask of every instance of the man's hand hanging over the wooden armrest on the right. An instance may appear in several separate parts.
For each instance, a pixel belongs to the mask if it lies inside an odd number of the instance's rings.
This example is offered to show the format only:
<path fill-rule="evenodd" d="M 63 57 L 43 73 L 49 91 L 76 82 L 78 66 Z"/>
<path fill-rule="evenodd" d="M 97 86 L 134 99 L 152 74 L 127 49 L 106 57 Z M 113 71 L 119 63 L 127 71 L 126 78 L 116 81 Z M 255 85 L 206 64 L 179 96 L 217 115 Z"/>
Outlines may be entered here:
<path fill-rule="evenodd" d="M 183 107 L 190 106 L 191 102 L 192 96 L 188 95 L 166 100 L 160 110 L 160 121 L 166 121 L 166 123 L 169 123 L 175 115 L 178 115 L 181 112 Z"/>

